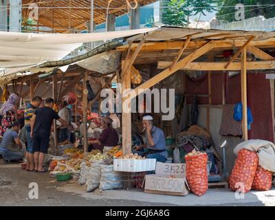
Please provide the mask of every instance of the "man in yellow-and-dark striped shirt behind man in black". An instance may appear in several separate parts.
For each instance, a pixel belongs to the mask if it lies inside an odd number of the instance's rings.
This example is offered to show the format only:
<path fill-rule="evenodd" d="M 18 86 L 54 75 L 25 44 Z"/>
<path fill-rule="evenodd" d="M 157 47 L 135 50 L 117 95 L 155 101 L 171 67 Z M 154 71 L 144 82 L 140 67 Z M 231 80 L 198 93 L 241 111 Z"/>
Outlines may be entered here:
<path fill-rule="evenodd" d="M 32 120 L 32 115 L 34 114 L 35 109 L 37 109 L 42 102 L 42 98 L 39 96 L 35 96 L 32 101 L 25 108 L 25 131 L 28 139 L 28 147 L 26 153 L 27 159 L 27 171 L 34 170 L 34 151 L 32 146 L 32 137 L 30 136 L 31 127 L 30 121 Z"/>

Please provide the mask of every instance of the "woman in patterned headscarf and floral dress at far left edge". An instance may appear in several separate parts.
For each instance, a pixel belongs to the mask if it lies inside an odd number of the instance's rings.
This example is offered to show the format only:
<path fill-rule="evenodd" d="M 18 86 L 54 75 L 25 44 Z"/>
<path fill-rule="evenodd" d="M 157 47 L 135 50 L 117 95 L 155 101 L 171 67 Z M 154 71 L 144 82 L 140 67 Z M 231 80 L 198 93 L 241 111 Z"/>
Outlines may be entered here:
<path fill-rule="evenodd" d="M 19 101 L 19 97 L 16 94 L 10 94 L 8 100 L 1 107 L 0 113 L 2 115 L 0 135 L 7 129 L 10 129 L 12 123 L 16 121 L 15 119 L 15 105 Z"/>

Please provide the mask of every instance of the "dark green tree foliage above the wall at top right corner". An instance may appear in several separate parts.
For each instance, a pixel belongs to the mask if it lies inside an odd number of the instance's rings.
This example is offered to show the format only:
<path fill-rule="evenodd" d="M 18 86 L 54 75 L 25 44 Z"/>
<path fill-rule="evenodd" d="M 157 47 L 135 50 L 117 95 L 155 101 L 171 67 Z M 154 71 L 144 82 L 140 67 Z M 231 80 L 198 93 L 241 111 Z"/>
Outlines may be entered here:
<path fill-rule="evenodd" d="M 235 21 L 235 8 L 238 3 L 245 5 L 255 5 L 245 7 L 245 19 L 252 17 L 264 16 L 265 19 L 275 17 L 275 1 L 274 0 L 219 0 L 219 10 L 216 17 L 220 21 Z M 270 5 L 273 4 L 273 5 Z"/>

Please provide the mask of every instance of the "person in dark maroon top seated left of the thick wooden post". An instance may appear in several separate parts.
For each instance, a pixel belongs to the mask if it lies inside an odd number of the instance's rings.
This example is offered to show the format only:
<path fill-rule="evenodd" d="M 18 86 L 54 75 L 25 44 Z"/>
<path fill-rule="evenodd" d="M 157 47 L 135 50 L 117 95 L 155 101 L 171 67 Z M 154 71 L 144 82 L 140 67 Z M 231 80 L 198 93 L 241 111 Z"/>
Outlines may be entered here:
<path fill-rule="evenodd" d="M 109 117 L 104 117 L 101 120 L 101 127 L 103 129 L 97 140 L 89 140 L 89 151 L 91 149 L 98 149 L 103 151 L 104 146 L 117 146 L 118 145 L 118 133 L 113 129 L 113 120 Z"/>

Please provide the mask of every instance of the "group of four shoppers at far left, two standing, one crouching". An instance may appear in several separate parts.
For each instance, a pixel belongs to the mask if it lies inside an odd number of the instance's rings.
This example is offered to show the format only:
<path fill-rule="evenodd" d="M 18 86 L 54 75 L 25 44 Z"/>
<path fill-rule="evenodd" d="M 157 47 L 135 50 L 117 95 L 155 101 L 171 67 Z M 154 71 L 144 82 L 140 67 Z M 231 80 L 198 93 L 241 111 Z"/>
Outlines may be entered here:
<path fill-rule="evenodd" d="M 0 157 L 5 161 L 20 161 L 24 156 L 22 144 L 19 140 L 20 124 L 15 121 L 14 115 L 10 116 L 13 114 L 12 111 L 14 111 L 18 100 L 19 98 L 16 94 L 11 94 L 8 101 L 1 108 L 1 131 L 3 132 L 3 138 L 0 143 Z M 69 127 L 69 124 L 53 110 L 54 100 L 52 98 L 47 98 L 43 107 L 40 107 L 41 102 L 41 97 L 34 97 L 25 108 L 24 114 L 24 129 L 27 140 L 25 144 L 26 170 L 39 173 L 46 171 L 43 168 L 43 161 L 49 148 L 52 122 L 57 120 L 61 128 Z M 3 128 L 3 122 L 7 121 L 7 114 L 12 120 L 9 120 L 9 124 L 6 123 L 5 128 Z"/>

